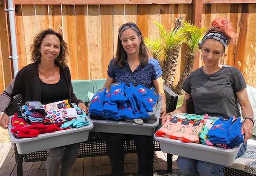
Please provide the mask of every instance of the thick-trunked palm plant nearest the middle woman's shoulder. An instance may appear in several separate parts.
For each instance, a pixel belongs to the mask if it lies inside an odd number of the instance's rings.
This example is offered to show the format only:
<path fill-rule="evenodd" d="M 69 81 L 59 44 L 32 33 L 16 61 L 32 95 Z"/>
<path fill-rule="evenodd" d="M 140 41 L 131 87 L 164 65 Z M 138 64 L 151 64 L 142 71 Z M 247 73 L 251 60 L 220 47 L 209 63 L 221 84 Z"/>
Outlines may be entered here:
<path fill-rule="evenodd" d="M 180 45 L 186 40 L 186 32 L 195 31 L 195 26 L 188 23 L 186 20 L 182 20 L 183 17 L 175 19 L 175 27 L 170 32 L 166 31 L 162 24 L 153 21 L 159 28 L 161 40 L 159 40 L 162 46 L 163 59 L 161 60 L 163 79 L 165 84 L 173 89 L 175 72 L 177 67 L 177 59 L 180 51 Z M 156 58 L 161 58 L 157 56 Z"/>

